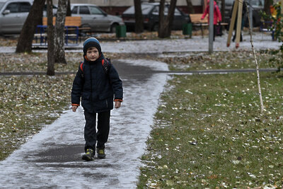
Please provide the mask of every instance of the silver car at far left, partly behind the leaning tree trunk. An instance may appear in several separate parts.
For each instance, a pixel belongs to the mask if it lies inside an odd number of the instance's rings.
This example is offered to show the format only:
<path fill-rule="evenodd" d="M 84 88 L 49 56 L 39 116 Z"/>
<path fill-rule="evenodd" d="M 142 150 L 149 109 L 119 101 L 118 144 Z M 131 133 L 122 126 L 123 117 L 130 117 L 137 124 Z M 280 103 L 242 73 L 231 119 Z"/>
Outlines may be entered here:
<path fill-rule="evenodd" d="M 28 17 L 33 0 L 0 0 L 0 34 L 19 34 Z M 57 7 L 53 7 L 56 14 Z M 46 16 L 46 11 L 43 12 Z"/>

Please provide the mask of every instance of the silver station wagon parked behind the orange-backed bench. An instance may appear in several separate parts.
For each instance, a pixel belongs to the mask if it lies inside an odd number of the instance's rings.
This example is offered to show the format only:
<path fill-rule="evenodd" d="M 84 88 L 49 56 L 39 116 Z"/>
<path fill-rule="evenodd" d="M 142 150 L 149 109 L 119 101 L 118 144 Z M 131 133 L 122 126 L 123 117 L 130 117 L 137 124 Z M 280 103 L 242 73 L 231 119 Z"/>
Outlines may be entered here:
<path fill-rule="evenodd" d="M 105 13 L 95 4 L 71 4 L 71 16 L 81 16 L 81 26 L 92 32 L 115 33 L 117 25 L 124 25 L 122 18 Z"/>

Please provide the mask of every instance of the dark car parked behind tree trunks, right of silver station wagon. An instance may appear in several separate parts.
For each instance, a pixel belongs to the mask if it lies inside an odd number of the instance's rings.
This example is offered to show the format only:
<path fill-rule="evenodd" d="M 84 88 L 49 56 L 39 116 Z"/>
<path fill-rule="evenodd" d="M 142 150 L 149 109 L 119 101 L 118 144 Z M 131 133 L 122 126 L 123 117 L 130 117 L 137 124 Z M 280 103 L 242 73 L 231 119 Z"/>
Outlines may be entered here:
<path fill-rule="evenodd" d="M 166 5 L 164 8 L 164 15 L 168 14 L 169 6 Z M 158 30 L 158 15 L 159 15 L 159 3 L 144 3 L 141 4 L 141 12 L 144 16 L 144 29 L 146 30 Z M 134 28 L 135 18 L 134 18 L 134 6 L 127 8 L 124 13 L 122 13 L 123 21 L 127 28 Z M 190 16 L 175 8 L 175 15 L 173 21 L 173 30 L 182 30 L 184 23 L 190 23 Z"/>

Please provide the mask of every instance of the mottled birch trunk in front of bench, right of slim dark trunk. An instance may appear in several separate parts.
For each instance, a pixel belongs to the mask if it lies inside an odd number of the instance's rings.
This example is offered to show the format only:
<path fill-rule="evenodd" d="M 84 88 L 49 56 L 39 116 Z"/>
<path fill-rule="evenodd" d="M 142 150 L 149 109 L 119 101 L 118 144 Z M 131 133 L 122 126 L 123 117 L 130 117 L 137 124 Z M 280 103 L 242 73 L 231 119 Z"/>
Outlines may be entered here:
<path fill-rule="evenodd" d="M 67 64 L 65 59 L 65 50 L 64 50 L 64 40 L 65 40 L 65 32 L 64 25 L 67 13 L 67 0 L 59 0 L 58 1 L 58 9 L 55 23 L 55 33 L 54 33 L 54 57 L 56 63 Z"/>

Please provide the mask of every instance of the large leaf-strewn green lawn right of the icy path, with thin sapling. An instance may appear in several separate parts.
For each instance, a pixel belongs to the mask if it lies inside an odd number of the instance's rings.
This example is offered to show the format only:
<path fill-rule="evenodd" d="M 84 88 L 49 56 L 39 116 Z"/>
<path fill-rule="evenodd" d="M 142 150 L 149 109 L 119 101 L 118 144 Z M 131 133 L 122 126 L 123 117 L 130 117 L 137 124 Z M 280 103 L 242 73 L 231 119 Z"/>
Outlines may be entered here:
<path fill-rule="evenodd" d="M 174 76 L 161 96 L 138 188 L 283 187 L 282 75 Z"/>

